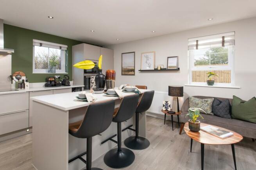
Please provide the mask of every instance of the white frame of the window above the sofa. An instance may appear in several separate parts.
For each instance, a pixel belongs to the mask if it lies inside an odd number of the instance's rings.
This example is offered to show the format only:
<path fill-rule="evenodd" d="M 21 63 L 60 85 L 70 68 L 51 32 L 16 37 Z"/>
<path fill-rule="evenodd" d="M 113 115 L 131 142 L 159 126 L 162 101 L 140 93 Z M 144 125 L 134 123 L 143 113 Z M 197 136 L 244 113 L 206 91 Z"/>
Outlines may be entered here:
<path fill-rule="evenodd" d="M 210 70 L 231 70 L 231 83 L 215 82 L 216 86 L 235 86 L 235 45 L 227 46 L 228 49 L 228 65 L 222 66 L 194 66 L 194 55 L 192 54 L 196 49 L 188 49 L 188 84 L 189 85 L 207 85 L 207 82 L 192 82 L 192 71 L 210 71 Z M 231 49 L 233 48 L 233 49 Z M 210 48 L 209 48 L 210 49 Z M 231 49 L 231 50 L 230 50 Z M 233 51 L 233 53 L 232 53 Z"/>

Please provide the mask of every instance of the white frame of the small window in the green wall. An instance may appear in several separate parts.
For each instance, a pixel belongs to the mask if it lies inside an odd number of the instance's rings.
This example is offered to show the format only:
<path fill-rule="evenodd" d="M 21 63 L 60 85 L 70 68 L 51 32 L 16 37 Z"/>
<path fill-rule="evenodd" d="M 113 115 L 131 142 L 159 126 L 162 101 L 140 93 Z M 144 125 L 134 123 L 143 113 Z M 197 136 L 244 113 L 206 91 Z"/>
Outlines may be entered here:
<path fill-rule="evenodd" d="M 52 42 L 45 42 L 45 41 L 40 41 L 40 40 L 33 40 L 34 42 L 43 42 L 45 44 L 49 44 L 49 45 L 55 45 L 55 46 L 59 46 L 60 44 L 55 44 Z M 61 50 L 61 70 L 56 69 L 55 73 L 49 73 L 48 69 L 36 69 L 35 68 L 35 46 L 33 44 L 33 74 L 68 74 L 68 72 L 66 72 L 66 50 L 65 49 L 60 49 Z M 62 45 L 64 46 L 64 45 Z M 40 47 L 40 46 L 39 46 Z M 64 46 L 67 47 L 67 46 Z M 49 48 L 53 48 L 53 47 L 47 47 Z M 57 49 L 57 48 L 56 48 Z"/>

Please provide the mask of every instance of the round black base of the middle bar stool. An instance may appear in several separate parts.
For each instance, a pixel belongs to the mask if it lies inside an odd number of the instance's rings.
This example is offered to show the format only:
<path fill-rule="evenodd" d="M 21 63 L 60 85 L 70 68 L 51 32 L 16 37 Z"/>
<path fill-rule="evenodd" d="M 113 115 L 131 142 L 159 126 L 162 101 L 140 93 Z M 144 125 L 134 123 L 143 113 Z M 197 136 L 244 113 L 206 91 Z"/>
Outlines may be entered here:
<path fill-rule="evenodd" d="M 118 152 L 118 149 L 111 149 L 104 156 L 104 162 L 111 168 L 125 168 L 131 165 L 135 159 L 134 153 L 127 148 L 121 148 L 122 151 Z"/>

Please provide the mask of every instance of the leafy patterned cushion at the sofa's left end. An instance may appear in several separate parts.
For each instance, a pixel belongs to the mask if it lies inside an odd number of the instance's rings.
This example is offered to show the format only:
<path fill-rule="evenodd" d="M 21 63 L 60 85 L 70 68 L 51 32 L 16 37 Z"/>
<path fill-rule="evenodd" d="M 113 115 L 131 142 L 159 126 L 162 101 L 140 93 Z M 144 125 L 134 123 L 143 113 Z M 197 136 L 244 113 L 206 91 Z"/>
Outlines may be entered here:
<path fill-rule="evenodd" d="M 214 98 L 206 98 L 206 99 L 200 99 L 193 96 L 189 97 L 189 107 L 190 108 L 200 108 L 206 112 L 206 114 L 212 113 L 212 104 L 213 104 Z M 200 110 L 200 113 L 204 113 L 202 110 Z"/>

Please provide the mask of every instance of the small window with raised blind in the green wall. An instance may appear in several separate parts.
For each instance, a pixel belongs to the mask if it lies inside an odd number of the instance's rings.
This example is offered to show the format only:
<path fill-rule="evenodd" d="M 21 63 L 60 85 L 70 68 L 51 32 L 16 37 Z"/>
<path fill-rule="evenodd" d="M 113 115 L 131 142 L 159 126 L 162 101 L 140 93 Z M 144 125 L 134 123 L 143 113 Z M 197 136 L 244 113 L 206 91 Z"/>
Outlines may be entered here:
<path fill-rule="evenodd" d="M 68 73 L 67 47 L 33 40 L 33 73 Z"/>

